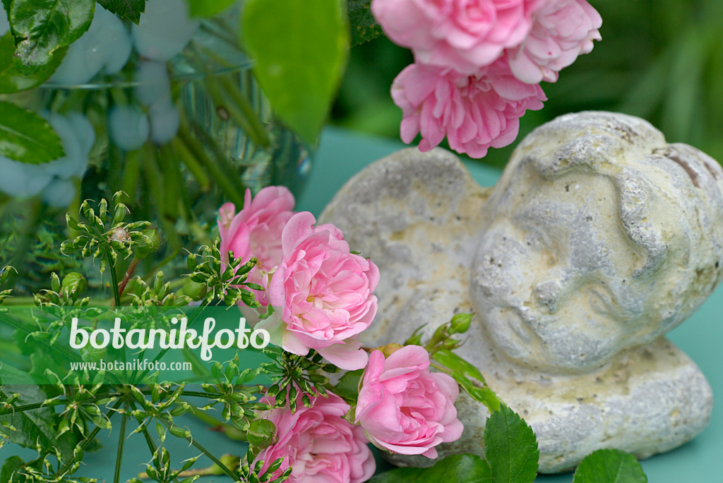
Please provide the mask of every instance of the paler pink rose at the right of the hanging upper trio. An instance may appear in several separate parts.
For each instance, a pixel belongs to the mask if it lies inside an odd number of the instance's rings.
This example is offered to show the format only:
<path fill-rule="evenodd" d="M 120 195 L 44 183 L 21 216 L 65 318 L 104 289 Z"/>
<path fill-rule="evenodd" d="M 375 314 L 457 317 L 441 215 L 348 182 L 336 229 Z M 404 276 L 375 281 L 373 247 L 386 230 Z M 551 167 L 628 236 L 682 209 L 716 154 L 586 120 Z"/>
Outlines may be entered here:
<path fill-rule="evenodd" d="M 601 40 L 600 14 L 585 0 L 547 0 L 526 40 L 507 51 L 515 77 L 528 84 L 557 81 L 557 72 Z"/>

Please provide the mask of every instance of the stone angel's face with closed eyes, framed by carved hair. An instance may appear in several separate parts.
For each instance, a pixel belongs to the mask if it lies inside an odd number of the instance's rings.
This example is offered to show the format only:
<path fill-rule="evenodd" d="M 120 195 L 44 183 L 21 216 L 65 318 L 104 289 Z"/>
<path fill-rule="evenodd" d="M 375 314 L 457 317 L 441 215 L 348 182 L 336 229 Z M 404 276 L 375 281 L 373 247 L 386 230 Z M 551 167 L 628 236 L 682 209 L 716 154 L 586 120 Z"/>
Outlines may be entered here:
<path fill-rule="evenodd" d="M 490 209 L 472 295 L 495 345 L 540 369 L 612 357 L 643 310 L 636 273 L 646 261 L 621 223 L 612 180 L 580 171 L 510 183 Z"/>

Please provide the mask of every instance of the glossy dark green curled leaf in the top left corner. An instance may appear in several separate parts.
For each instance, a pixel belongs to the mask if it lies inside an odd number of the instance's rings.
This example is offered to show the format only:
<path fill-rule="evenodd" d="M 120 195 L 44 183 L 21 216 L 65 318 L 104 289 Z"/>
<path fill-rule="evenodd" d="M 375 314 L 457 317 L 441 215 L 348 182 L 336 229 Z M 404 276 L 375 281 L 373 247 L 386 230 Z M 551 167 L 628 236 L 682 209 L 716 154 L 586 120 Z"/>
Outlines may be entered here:
<path fill-rule="evenodd" d="M 95 0 L 13 0 L 9 22 L 16 37 L 15 66 L 34 74 L 50 64 L 53 53 L 80 38 L 90 27 Z"/>

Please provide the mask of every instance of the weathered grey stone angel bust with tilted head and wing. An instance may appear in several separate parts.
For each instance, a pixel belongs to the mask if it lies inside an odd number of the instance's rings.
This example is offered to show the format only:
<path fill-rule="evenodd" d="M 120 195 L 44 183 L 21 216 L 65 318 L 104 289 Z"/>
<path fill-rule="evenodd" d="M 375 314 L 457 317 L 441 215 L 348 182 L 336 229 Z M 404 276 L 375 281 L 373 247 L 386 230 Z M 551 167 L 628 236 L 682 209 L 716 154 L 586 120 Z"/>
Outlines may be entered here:
<path fill-rule="evenodd" d="M 722 277 L 722 179 L 645 121 L 578 113 L 527 136 L 495 188 L 442 149 L 404 149 L 321 219 L 382 271 L 365 341 L 474 312 L 461 355 L 533 427 L 540 470 L 557 472 L 597 448 L 668 451 L 706 426 L 710 387 L 662 336 Z M 483 454 L 486 409 L 457 406 L 465 432 L 440 456 Z"/>

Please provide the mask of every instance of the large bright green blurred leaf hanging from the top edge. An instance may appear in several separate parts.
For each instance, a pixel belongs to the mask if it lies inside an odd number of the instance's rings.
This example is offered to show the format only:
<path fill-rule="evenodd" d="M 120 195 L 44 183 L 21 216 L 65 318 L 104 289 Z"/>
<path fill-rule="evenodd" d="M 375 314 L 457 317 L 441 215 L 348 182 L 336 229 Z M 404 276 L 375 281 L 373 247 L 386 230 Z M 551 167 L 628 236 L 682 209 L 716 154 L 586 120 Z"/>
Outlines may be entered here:
<path fill-rule="evenodd" d="M 315 143 L 346 65 L 349 32 L 341 0 L 249 0 L 241 34 L 278 116 Z"/>

